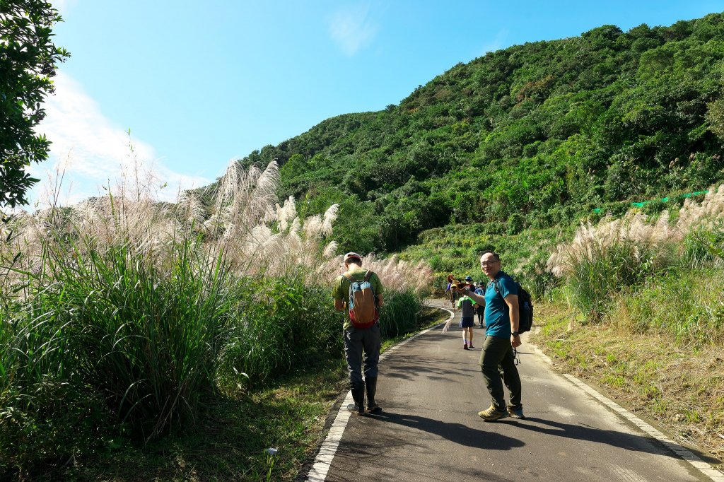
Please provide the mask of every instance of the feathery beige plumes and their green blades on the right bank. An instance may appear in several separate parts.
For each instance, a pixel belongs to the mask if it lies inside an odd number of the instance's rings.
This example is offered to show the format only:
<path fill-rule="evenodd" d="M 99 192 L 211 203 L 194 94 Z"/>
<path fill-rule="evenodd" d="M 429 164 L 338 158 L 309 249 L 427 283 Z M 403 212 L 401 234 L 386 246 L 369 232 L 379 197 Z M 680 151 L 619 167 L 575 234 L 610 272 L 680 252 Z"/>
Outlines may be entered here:
<path fill-rule="evenodd" d="M 687 199 L 673 226 L 666 211 L 656 222 L 633 212 L 623 219 L 605 219 L 597 227 L 581 224 L 572 242 L 557 246 L 547 266 L 556 276 L 565 276 L 578 309 L 597 320 L 621 289 L 657 271 L 711 262 L 723 214 L 724 185 L 712 187 L 701 203 Z"/>

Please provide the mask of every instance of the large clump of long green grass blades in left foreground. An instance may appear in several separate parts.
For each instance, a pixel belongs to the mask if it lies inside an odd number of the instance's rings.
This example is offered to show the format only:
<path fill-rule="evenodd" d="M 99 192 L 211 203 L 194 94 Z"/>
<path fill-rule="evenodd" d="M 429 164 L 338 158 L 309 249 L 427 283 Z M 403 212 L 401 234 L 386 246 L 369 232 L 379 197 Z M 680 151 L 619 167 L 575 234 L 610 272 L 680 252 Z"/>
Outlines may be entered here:
<path fill-rule="evenodd" d="M 3 313 L 0 449 L 12 465 L 87 452 L 114 426 L 147 440 L 193 420 L 237 306 L 221 260 L 199 259 L 190 240 L 169 249 L 167 271 L 125 246 L 46 251 L 52 281 L 31 278 Z"/>

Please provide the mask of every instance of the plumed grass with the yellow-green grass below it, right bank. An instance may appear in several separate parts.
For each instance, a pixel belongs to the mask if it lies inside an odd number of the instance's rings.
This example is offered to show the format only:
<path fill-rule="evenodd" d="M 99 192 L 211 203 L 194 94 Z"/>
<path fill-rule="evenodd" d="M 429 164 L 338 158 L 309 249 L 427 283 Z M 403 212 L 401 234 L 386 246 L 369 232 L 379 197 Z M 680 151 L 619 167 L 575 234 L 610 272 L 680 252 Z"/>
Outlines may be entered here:
<path fill-rule="evenodd" d="M 721 342 L 723 219 L 724 185 L 701 203 L 687 200 L 673 223 L 666 212 L 654 220 L 635 212 L 583 224 L 547 266 L 565 279 L 569 300 L 588 321 Z"/>

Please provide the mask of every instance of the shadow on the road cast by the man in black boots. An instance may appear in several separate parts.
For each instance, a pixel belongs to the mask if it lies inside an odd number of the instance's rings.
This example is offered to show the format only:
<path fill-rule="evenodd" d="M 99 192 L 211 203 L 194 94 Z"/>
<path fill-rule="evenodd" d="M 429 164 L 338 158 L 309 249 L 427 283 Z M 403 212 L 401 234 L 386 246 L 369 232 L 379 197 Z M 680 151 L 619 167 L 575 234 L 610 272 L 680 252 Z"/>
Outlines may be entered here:
<path fill-rule="evenodd" d="M 434 434 L 455 442 L 455 444 L 476 449 L 510 450 L 513 447 L 523 447 L 525 445 L 523 441 L 513 439 L 513 437 L 470 428 L 462 423 L 442 422 L 419 415 L 383 412 L 374 415 L 374 418 Z"/>

